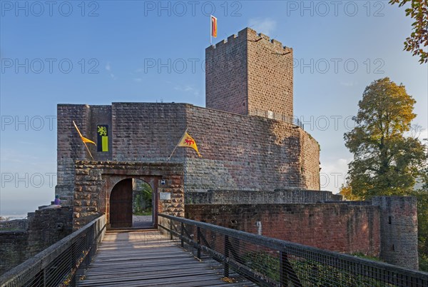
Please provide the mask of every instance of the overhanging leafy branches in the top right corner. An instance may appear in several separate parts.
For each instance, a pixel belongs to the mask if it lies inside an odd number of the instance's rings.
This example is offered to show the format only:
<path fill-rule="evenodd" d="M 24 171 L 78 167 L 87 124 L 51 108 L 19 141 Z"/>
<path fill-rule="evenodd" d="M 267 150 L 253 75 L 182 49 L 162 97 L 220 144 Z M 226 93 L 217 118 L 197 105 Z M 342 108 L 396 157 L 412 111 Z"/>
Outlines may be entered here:
<path fill-rule="evenodd" d="M 424 46 L 428 46 L 428 0 L 389 0 L 389 4 L 399 4 L 399 7 L 410 2 L 406 16 L 415 21 L 412 24 L 412 34 L 404 42 L 404 50 L 412 51 L 413 56 L 419 56 L 419 63 L 428 61 L 428 52 Z"/>

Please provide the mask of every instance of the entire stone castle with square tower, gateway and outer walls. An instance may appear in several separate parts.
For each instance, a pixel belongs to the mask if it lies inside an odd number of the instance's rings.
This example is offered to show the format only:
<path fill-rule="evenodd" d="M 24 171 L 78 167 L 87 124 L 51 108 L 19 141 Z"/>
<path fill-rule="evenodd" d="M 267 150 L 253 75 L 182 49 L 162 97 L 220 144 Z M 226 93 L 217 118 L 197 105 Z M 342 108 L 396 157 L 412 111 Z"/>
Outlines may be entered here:
<path fill-rule="evenodd" d="M 168 213 L 417 268 L 415 198 L 342 201 L 320 191 L 320 146 L 293 121 L 292 53 L 248 28 L 209 46 L 205 108 L 58 104 L 63 207 L 36 211 L 26 231 L 0 233 L 0 271 L 51 244 L 46 234 L 62 238 L 102 214 L 109 228 L 129 227 L 133 179 L 153 190 L 153 227 Z M 73 121 L 97 142 L 88 145 L 94 160 Z M 168 161 L 186 129 L 202 157 L 177 148 Z"/>

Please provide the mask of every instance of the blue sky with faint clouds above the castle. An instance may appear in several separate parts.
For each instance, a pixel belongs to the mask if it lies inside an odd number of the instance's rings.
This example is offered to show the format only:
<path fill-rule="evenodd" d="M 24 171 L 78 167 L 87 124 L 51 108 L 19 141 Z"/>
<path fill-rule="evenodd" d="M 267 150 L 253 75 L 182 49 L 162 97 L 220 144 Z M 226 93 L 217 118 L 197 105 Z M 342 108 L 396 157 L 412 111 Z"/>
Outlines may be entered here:
<path fill-rule="evenodd" d="M 387 1 L 0 1 L 0 214 L 54 199 L 56 104 L 205 106 L 209 14 L 218 38 L 250 26 L 294 49 L 295 116 L 321 146 L 322 189 L 352 155 L 343 133 L 365 86 L 389 76 L 417 100 L 427 138 L 427 65 L 402 51 L 412 19 Z"/>

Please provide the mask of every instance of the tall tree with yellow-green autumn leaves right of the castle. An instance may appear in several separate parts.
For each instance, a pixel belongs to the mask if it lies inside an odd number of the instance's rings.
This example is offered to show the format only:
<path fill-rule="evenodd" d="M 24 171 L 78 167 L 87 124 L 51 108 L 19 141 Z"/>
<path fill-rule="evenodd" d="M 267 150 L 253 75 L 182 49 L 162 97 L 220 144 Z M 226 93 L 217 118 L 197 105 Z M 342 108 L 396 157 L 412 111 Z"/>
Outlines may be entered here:
<path fill-rule="evenodd" d="M 370 198 L 412 192 L 427 162 L 421 141 L 405 136 L 416 117 L 415 103 L 402 84 L 389 78 L 366 87 L 353 117 L 356 126 L 345 134 L 345 145 L 354 154 L 348 171 L 352 194 Z"/>

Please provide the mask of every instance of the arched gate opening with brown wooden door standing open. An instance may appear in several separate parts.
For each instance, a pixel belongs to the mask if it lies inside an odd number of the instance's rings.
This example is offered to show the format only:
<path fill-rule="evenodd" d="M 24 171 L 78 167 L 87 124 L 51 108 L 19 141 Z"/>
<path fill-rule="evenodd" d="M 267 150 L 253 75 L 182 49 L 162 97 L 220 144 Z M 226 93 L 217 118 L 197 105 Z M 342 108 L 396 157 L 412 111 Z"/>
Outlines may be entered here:
<path fill-rule="evenodd" d="M 158 227 L 158 177 L 126 178 L 110 193 L 109 228 Z"/>

